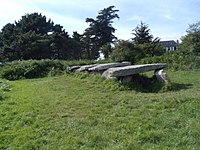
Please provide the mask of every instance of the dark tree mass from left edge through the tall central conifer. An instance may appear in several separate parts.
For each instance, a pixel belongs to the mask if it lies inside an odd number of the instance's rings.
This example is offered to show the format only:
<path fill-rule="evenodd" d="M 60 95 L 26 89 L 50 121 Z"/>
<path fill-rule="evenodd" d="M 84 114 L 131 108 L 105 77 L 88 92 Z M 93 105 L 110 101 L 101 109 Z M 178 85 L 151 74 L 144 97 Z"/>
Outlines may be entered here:
<path fill-rule="evenodd" d="M 83 34 L 68 32 L 39 13 L 26 14 L 15 23 L 6 24 L 0 32 L 1 59 L 97 59 L 99 50 L 109 46 L 114 36 L 113 20 L 119 18 L 114 6 L 99 12 L 96 19 L 86 18 L 89 27 Z M 102 50 L 108 57 L 109 50 Z"/>

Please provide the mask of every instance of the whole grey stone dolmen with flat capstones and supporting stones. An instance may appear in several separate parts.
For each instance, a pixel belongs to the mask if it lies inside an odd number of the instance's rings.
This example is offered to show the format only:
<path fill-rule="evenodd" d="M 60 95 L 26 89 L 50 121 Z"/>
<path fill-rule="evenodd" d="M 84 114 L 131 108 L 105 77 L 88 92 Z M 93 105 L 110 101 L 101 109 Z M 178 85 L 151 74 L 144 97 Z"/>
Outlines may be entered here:
<path fill-rule="evenodd" d="M 85 72 L 92 74 L 101 74 L 106 79 L 117 78 L 122 83 L 131 82 L 134 75 L 154 71 L 154 75 L 159 81 L 170 82 L 169 77 L 163 70 L 168 67 L 166 63 L 131 65 L 130 62 L 91 64 L 83 66 L 72 66 L 68 68 L 70 72 Z"/>

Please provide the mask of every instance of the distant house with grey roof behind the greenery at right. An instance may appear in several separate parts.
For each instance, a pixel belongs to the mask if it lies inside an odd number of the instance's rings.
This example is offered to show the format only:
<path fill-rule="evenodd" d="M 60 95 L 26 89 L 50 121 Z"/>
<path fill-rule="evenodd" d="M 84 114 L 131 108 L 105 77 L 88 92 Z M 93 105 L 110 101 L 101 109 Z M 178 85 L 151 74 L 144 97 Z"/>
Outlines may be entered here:
<path fill-rule="evenodd" d="M 178 49 L 179 42 L 175 42 L 174 40 L 170 41 L 160 41 L 159 44 L 166 49 L 166 52 L 175 51 Z"/>

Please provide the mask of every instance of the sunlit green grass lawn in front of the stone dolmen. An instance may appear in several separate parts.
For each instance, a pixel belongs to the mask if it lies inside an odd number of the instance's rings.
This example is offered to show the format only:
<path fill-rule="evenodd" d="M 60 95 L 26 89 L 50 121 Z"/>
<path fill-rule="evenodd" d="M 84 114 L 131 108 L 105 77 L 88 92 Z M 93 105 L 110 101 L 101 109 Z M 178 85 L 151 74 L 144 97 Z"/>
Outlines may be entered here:
<path fill-rule="evenodd" d="M 173 90 L 154 93 L 88 75 L 9 81 L 0 149 L 200 149 L 200 70 L 168 74 Z"/>

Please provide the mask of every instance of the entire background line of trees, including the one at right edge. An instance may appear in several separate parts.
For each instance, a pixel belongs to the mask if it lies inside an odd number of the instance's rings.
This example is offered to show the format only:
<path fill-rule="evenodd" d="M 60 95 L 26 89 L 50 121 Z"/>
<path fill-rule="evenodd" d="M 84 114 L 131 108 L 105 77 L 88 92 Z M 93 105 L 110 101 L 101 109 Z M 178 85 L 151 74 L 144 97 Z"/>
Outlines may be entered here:
<path fill-rule="evenodd" d="M 153 38 L 147 24 L 141 22 L 133 29 L 133 39 L 118 40 L 112 26 L 119 19 L 119 10 L 109 6 L 100 10 L 97 17 L 86 18 L 89 27 L 82 34 L 70 36 L 60 24 L 54 24 L 39 13 L 26 14 L 15 23 L 6 24 L 0 32 L 1 61 L 28 59 L 80 60 L 105 58 L 135 62 L 145 57 L 165 53 L 159 38 Z M 193 24 L 182 39 L 182 49 L 199 53 L 200 23 Z M 185 50 L 185 53 L 188 52 Z"/>

